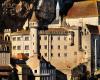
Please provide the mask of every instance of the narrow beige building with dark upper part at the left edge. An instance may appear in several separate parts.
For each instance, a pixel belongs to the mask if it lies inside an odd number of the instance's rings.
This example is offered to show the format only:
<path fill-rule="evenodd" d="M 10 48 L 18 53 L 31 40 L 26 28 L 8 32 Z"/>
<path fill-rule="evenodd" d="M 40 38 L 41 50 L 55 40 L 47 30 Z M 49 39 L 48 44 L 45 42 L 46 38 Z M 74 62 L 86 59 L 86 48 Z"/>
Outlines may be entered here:
<path fill-rule="evenodd" d="M 1 35 L 0 40 L 0 79 L 8 80 L 12 72 L 12 67 L 10 64 L 10 42 L 4 41 L 3 36 Z"/>

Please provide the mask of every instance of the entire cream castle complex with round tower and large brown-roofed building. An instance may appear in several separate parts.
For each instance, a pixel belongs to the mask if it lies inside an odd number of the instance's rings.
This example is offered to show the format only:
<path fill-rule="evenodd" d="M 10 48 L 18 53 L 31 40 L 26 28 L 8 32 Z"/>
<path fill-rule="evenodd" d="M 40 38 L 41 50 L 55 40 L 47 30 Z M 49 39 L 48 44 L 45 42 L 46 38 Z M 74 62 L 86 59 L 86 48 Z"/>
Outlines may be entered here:
<path fill-rule="evenodd" d="M 66 80 L 67 77 L 70 79 L 71 70 L 80 64 L 84 64 L 87 71 L 91 73 L 94 42 L 91 40 L 92 35 L 88 25 L 91 27 L 99 25 L 99 4 L 92 1 L 75 2 L 62 23 L 57 14 L 52 24 L 42 29 L 33 12 L 29 24 L 25 24 L 29 27 L 28 30 L 24 27 L 24 30 L 16 32 L 6 30 L 6 34 L 4 33 L 5 36 L 10 36 L 12 56 L 17 56 L 19 53 L 29 58 L 36 55 L 42 56 L 56 67 L 56 70 L 63 73 L 64 76 L 56 75 L 58 80 Z M 9 37 L 6 39 L 9 40 Z M 34 59 L 32 61 L 35 62 Z M 39 63 L 40 61 L 37 60 L 38 67 L 40 67 Z"/>

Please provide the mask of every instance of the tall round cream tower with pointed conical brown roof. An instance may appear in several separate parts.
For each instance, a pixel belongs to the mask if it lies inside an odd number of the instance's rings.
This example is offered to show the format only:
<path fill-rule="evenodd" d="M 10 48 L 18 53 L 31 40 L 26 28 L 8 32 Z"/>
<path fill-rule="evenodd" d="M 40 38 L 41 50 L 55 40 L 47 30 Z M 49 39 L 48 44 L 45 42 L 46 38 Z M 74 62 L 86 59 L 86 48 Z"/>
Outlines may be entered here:
<path fill-rule="evenodd" d="M 32 18 L 29 22 L 30 27 L 30 38 L 31 38 L 31 53 L 32 55 L 38 53 L 38 23 L 37 18 L 35 16 L 35 12 L 32 14 Z M 31 55 L 31 56 L 32 56 Z"/>

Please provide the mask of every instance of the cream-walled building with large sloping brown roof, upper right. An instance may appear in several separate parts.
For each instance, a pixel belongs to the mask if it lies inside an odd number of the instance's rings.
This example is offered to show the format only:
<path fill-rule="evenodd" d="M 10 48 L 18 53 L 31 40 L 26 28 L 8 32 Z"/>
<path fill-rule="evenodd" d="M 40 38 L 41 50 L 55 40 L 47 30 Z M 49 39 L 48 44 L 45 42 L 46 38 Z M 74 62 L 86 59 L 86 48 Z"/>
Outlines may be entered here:
<path fill-rule="evenodd" d="M 65 17 L 67 25 L 85 26 L 86 24 L 100 24 L 100 1 L 74 2 Z"/>

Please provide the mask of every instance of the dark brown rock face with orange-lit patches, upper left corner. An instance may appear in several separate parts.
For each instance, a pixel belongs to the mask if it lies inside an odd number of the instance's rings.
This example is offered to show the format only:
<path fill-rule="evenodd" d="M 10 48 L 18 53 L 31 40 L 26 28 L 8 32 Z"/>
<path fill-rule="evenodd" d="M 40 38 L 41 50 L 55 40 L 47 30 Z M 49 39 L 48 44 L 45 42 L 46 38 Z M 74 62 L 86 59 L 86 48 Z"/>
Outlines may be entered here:
<path fill-rule="evenodd" d="M 0 0 L 0 28 L 22 28 L 34 0 Z"/>

